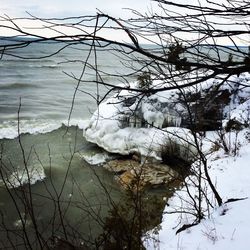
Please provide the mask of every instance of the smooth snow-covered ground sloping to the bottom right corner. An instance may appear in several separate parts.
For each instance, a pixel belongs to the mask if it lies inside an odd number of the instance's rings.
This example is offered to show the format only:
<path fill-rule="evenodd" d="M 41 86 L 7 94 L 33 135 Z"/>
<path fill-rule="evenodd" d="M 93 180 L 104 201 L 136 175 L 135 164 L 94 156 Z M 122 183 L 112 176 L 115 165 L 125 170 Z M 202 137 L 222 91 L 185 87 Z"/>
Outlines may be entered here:
<path fill-rule="evenodd" d="M 192 218 L 185 214 L 167 214 L 180 205 L 186 192 L 178 191 L 168 202 L 159 232 L 159 248 L 185 250 L 248 250 L 250 247 L 250 143 L 246 139 L 250 131 L 241 131 L 238 142 L 241 144 L 237 156 L 214 152 L 209 158 L 210 175 L 223 201 L 231 198 L 246 198 L 230 202 L 211 210 L 210 218 L 203 219 L 197 226 L 179 234 L 177 229 L 191 223 Z M 211 135 L 211 134 L 210 134 Z M 147 249 L 155 249 L 153 245 Z"/>

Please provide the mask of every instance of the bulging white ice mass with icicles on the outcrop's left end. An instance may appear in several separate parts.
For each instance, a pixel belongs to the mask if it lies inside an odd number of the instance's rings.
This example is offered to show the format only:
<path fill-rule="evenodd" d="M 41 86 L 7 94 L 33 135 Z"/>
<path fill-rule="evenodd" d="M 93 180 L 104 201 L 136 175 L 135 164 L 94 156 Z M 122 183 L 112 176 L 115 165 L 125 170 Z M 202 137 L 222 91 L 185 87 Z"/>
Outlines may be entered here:
<path fill-rule="evenodd" d="M 136 83 L 133 83 L 132 86 L 135 87 L 135 85 Z M 122 90 L 119 94 L 101 103 L 89 124 L 83 129 L 86 140 L 111 153 L 122 155 L 139 153 L 157 160 L 161 160 L 162 147 L 170 140 L 176 141 L 183 148 L 189 148 L 193 152 L 193 139 L 188 129 L 157 128 L 163 124 L 164 117 L 161 108 L 165 98 L 160 95 L 137 98 L 137 95 L 136 92 Z M 138 110 L 139 113 L 141 112 L 140 117 L 145 119 L 144 127 L 138 127 L 134 121 L 140 118 L 135 118 L 132 126 L 129 122 L 124 126 L 126 118 L 134 116 Z M 168 107 L 164 107 L 164 110 L 168 112 Z M 172 114 L 169 117 L 169 120 L 174 119 Z M 178 119 L 176 121 L 178 122 Z M 149 126 L 152 123 L 154 123 L 153 126 Z"/>

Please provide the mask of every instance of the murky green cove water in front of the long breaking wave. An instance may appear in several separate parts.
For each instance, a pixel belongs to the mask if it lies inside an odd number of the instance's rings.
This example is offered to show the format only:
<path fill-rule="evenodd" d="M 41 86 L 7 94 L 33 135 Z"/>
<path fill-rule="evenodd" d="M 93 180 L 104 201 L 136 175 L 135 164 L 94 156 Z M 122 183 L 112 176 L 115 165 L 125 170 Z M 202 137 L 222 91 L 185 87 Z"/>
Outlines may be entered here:
<path fill-rule="evenodd" d="M 29 185 L 21 185 L 23 180 L 25 181 L 27 168 L 30 178 L 36 178 L 35 184 L 30 186 L 30 191 L 39 230 L 43 232 L 46 230 L 44 238 L 53 234 L 63 236 L 58 199 L 69 235 L 70 227 L 75 227 L 83 237 L 94 237 L 97 232 L 100 233 L 101 227 L 97 219 L 107 216 L 110 208 L 105 189 L 116 202 L 120 200 L 122 194 L 112 174 L 101 167 L 92 168 L 82 160 L 81 154 L 93 148 L 93 145 L 86 143 L 82 137 L 82 131 L 77 127 L 70 127 L 68 130 L 66 127 L 61 127 L 45 134 L 23 134 L 21 143 L 27 157 L 25 168 L 18 139 L 1 140 L 1 175 L 5 183 L 0 183 L 0 211 L 4 215 L 6 227 L 16 232 L 22 230 L 21 214 L 25 217 L 26 229 L 32 239 L 34 227 L 27 205 L 30 202 L 27 203 Z M 37 171 L 31 172 L 32 168 Z M 39 175 L 43 172 L 46 177 L 39 180 Z M 16 174 L 16 182 L 10 178 L 12 173 Z M 16 183 L 19 184 L 18 188 L 15 186 Z M 24 194 L 27 195 L 26 198 Z M 98 211 L 100 217 L 94 214 Z M 2 241 L 5 239 L 8 245 L 6 231 L 3 230 L 3 224 L 0 224 L 0 239 Z M 17 239 L 17 242 L 22 242 L 17 234 L 10 235 L 12 240 Z M 2 249 L 4 244 L 1 240 Z"/>

